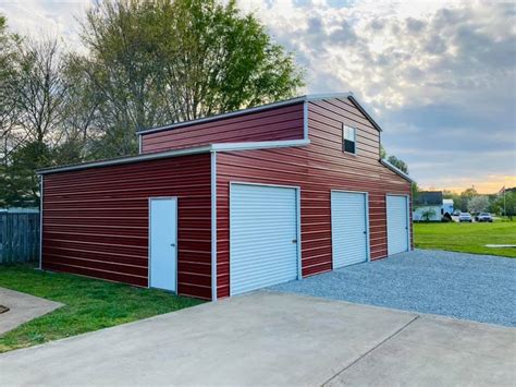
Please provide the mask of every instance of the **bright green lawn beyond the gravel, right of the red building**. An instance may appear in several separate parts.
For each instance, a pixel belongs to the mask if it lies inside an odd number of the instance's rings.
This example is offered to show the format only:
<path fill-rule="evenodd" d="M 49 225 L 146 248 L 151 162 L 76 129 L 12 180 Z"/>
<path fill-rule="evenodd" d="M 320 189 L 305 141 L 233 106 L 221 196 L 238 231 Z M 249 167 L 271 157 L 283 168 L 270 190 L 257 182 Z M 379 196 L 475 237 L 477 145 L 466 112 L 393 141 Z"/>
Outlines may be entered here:
<path fill-rule="evenodd" d="M 493 223 L 415 223 L 418 249 L 516 257 L 516 249 L 490 249 L 486 244 L 516 244 L 516 221 Z"/>

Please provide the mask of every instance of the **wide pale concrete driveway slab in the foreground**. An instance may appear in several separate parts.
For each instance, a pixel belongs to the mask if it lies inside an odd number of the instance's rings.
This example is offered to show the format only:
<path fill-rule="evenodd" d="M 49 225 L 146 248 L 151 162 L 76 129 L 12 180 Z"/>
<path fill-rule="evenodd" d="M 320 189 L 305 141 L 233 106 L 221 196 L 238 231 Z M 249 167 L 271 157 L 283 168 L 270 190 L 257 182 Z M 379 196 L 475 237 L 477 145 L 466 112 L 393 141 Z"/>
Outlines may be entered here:
<path fill-rule="evenodd" d="M 0 385 L 514 385 L 516 329 L 260 291 L 0 355 Z"/>

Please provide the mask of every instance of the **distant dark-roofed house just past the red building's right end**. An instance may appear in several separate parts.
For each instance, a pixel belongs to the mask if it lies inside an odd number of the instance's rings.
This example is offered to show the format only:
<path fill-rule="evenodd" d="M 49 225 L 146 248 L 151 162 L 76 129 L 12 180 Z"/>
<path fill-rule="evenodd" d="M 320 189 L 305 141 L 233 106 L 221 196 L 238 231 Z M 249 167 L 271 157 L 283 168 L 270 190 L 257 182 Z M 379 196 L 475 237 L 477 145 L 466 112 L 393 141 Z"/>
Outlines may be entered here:
<path fill-rule="evenodd" d="M 429 214 L 426 219 L 425 214 Z M 445 215 L 453 214 L 453 199 L 443 198 L 441 191 L 421 191 L 413 203 L 413 219 L 415 221 L 441 221 Z"/>

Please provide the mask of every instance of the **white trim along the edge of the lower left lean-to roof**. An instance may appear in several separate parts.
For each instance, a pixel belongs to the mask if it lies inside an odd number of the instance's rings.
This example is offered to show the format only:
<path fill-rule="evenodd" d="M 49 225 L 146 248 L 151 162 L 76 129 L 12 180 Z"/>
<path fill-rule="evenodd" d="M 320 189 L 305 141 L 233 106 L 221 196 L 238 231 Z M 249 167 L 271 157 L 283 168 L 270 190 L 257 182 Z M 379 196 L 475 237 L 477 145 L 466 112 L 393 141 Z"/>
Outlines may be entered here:
<path fill-rule="evenodd" d="M 267 149 L 267 148 L 280 148 L 280 147 L 295 147 L 305 146 L 310 143 L 309 140 L 287 140 L 287 141 L 263 141 L 263 142 L 249 142 L 249 143 L 223 143 L 223 144 L 210 144 L 206 146 L 198 146 L 187 149 L 175 149 L 167 150 L 153 154 L 143 154 L 138 156 L 119 157 L 109 160 L 84 162 L 63 167 L 53 167 L 47 169 L 40 169 L 36 171 L 37 174 L 49 174 L 57 172 L 74 171 L 81 169 L 99 168 L 118 166 L 123 164 L 133 164 L 146 160 L 157 160 L 160 158 L 179 157 L 187 155 L 196 155 L 210 152 L 232 152 L 232 150 L 250 150 L 250 149 Z"/>

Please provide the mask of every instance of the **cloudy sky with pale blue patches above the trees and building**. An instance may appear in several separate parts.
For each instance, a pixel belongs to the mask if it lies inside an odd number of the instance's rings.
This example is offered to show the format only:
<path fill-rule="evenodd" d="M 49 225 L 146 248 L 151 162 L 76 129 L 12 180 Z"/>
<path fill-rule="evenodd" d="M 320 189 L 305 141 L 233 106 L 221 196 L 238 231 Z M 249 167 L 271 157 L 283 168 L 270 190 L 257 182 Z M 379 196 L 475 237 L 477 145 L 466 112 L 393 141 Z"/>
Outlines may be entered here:
<path fill-rule="evenodd" d="M 516 186 L 516 3 L 237 0 L 305 70 L 305 93 L 353 92 L 422 189 Z M 91 0 L 0 0 L 21 34 L 81 47 Z"/>

